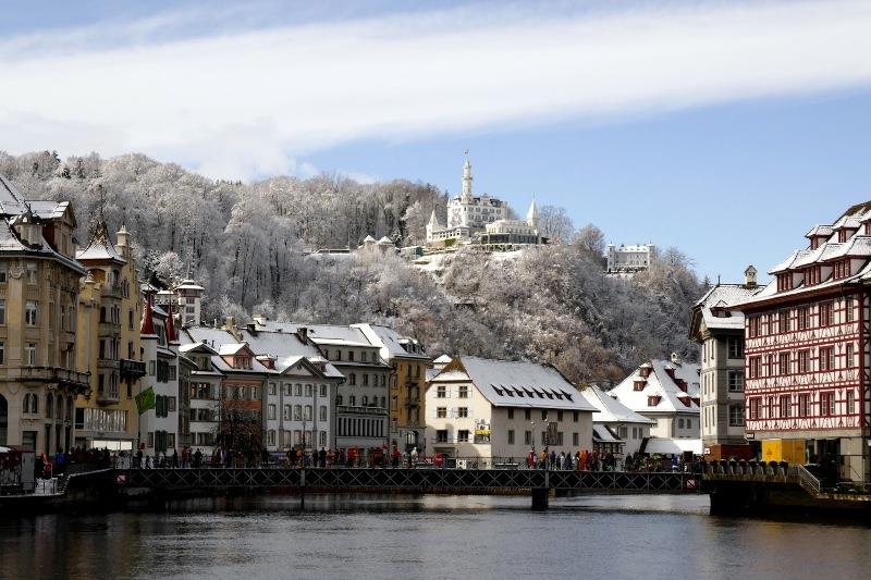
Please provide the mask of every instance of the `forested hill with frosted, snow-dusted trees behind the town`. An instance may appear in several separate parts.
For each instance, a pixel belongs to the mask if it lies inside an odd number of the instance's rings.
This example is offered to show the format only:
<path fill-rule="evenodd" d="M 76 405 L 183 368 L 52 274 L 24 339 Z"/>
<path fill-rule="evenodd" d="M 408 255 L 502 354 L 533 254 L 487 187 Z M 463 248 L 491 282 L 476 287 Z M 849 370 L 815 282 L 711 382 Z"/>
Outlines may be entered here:
<path fill-rule="evenodd" d="M 216 182 L 142 155 L 0 151 L 0 173 L 30 198 L 72 201 L 79 244 L 102 198 L 110 231 L 126 223 L 133 233 L 145 275 L 171 283 L 192 270 L 206 287 L 209 320 L 260 312 L 385 323 L 419 337 L 431 355 L 551 361 L 573 380 L 619 379 L 671 351 L 696 356 L 686 325 L 703 288 L 684 256 L 666 250 L 630 281 L 605 277 L 602 233 L 575 232 L 559 208 L 542 208 L 542 223 L 564 244 L 515 259 L 461 251 L 444 260 L 437 283 L 398 257 L 307 255 L 355 248 L 368 234 L 422 242 L 430 212 L 443 220 L 445 210 L 445 194 L 429 184 L 330 175 Z"/>

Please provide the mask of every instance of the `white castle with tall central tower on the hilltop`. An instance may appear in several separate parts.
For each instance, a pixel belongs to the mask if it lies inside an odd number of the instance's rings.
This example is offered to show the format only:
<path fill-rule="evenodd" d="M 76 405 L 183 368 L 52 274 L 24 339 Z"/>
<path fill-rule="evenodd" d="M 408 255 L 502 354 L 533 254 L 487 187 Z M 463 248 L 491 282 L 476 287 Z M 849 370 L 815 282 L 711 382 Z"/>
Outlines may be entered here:
<path fill-rule="evenodd" d="M 471 163 L 467 158 L 463 165 L 463 192 L 447 201 L 447 226 L 439 223 L 436 210 L 432 210 L 427 224 L 427 245 L 447 246 L 461 240 L 486 245 L 547 243 L 539 233 L 535 199 L 529 206 L 526 220 L 510 220 L 508 205 L 505 201 L 488 194 L 473 196 L 471 180 Z"/>

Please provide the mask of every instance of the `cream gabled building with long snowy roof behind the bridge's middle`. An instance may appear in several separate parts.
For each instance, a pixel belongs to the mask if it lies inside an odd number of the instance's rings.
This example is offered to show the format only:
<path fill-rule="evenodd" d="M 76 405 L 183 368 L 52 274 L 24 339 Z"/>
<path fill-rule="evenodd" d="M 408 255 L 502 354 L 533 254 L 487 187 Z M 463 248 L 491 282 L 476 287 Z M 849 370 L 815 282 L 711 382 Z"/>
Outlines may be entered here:
<path fill-rule="evenodd" d="M 556 369 L 454 357 L 427 386 L 430 453 L 519 462 L 593 445 L 597 410 Z"/>

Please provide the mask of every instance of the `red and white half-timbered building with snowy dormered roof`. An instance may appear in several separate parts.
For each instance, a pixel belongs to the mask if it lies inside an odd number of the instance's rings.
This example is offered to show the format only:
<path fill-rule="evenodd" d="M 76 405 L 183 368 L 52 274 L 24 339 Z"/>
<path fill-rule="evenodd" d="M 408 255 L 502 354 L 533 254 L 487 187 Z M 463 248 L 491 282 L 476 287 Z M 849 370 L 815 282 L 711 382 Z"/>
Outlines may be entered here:
<path fill-rule="evenodd" d="M 801 439 L 807 459 L 871 481 L 871 203 L 807 236 L 745 301 L 748 437 Z"/>

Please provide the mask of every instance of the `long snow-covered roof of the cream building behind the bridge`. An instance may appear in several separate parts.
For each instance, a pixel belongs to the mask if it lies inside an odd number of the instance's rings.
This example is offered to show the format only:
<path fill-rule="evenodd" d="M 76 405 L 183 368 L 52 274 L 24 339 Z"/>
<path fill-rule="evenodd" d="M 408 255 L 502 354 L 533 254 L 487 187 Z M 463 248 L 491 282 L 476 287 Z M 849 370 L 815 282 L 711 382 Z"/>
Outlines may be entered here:
<path fill-rule="evenodd" d="M 550 366 L 478 357 L 455 357 L 432 383 L 470 381 L 496 407 L 596 411 L 575 385 Z"/>

